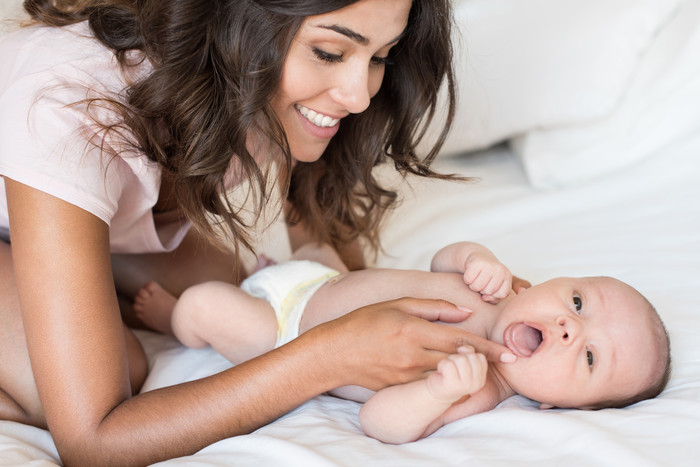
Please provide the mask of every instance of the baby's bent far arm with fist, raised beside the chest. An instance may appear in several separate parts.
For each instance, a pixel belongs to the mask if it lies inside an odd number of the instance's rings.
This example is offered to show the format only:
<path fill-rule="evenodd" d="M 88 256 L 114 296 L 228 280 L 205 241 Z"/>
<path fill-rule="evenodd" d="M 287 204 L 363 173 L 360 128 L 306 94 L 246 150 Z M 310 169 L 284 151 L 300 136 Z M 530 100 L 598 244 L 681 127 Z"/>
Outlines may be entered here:
<path fill-rule="evenodd" d="M 486 302 L 497 302 L 511 290 L 513 275 L 498 258 L 483 245 L 459 242 L 448 245 L 433 256 L 433 272 L 458 272 L 464 283 L 479 292 Z"/>

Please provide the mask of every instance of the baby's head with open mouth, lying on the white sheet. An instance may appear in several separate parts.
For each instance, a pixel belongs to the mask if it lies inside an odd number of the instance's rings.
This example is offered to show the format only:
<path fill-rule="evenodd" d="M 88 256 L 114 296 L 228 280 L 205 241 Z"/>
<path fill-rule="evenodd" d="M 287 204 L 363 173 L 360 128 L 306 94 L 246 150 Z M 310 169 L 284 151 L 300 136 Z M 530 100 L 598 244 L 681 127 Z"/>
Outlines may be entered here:
<path fill-rule="evenodd" d="M 542 408 L 624 407 L 658 395 L 670 375 L 668 334 L 654 307 L 610 277 L 558 278 L 504 304 L 492 338 L 518 361 L 498 365 Z"/>

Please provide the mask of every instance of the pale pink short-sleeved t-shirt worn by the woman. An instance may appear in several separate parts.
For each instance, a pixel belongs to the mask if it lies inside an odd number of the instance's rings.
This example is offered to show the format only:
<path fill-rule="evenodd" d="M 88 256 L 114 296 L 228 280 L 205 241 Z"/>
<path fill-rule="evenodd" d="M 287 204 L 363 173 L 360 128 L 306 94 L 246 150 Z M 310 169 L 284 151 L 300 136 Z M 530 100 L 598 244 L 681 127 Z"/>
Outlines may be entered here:
<path fill-rule="evenodd" d="M 114 253 L 177 247 L 189 224 L 178 216 L 154 219 L 152 213 L 160 167 L 142 153 L 123 151 L 116 137 L 87 141 L 95 124 L 86 105 L 75 103 L 118 99 L 127 86 L 116 58 L 91 37 L 87 23 L 10 34 L 0 42 L 0 63 L 0 175 L 102 219 Z M 144 62 L 135 73 L 149 70 Z M 117 121 L 104 107 L 90 110 L 100 122 Z M 8 227 L 0 177 L 0 234 L 6 236 Z"/>

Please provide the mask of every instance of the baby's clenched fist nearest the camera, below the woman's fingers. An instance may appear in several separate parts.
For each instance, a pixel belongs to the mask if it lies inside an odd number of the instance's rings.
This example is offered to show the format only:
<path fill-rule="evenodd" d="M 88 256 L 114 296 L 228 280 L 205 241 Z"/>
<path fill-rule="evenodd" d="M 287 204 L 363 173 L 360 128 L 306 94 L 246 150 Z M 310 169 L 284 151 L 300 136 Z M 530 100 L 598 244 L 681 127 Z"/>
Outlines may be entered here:
<path fill-rule="evenodd" d="M 437 371 L 428 376 L 428 392 L 439 401 L 452 403 L 483 388 L 487 370 L 483 354 L 470 346 L 460 347 L 456 354 L 441 360 Z"/>

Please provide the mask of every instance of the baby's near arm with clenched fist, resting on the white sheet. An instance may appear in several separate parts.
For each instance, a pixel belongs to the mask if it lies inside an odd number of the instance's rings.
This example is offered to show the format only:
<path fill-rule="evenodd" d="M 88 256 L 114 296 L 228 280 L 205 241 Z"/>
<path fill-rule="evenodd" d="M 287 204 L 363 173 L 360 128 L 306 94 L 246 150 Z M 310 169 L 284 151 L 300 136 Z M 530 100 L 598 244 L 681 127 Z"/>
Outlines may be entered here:
<path fill-rule="evenodd" d="M 442 426 L 441 415 L 455 402 L 484 387 L 487 370 L 482 354 L 460 347 L 427 379 L 391 386 L 372 396 L 360 410 L 362 428 L 385 443 L 425 437 Z"/>

